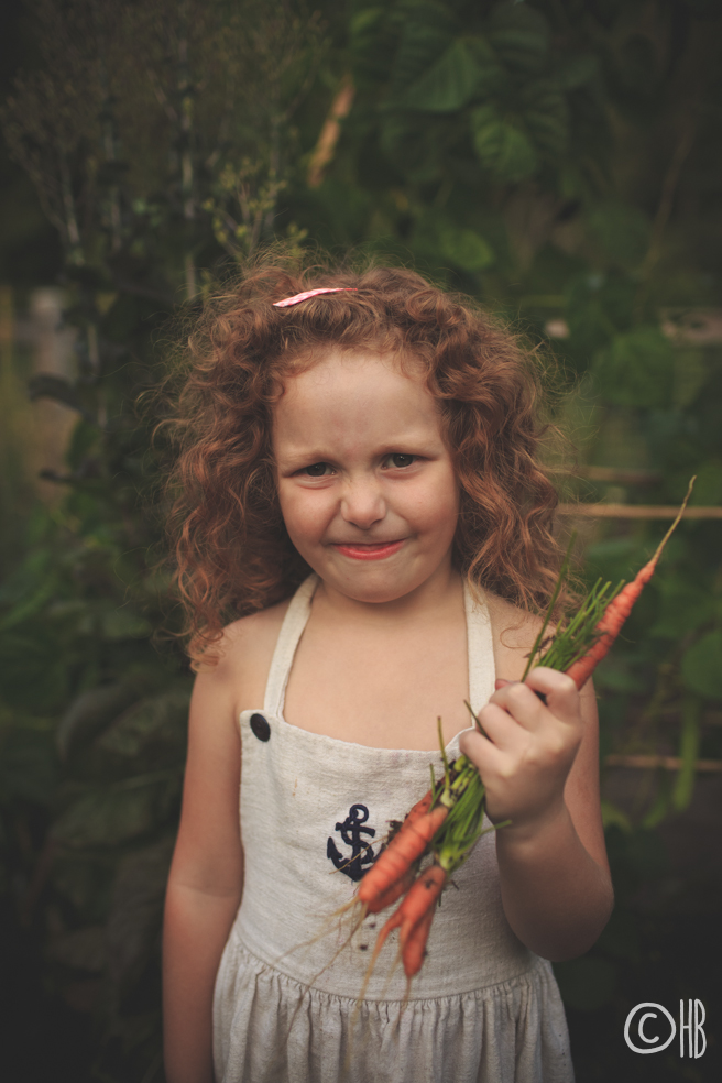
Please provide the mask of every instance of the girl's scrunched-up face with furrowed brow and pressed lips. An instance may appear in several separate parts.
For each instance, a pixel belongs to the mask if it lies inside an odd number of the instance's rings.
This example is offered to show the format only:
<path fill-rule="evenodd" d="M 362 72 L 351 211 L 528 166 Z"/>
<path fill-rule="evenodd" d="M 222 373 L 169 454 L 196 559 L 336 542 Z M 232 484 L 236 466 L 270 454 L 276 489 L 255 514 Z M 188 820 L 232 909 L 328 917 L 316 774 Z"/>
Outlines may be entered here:
<path fill-rule="evenodd" d="M 419 373 L 330 352 L 285 381 L 273 448 L 288 535 L 327 587 L 379 603 L 449 576 L 459 486 Z"/>

